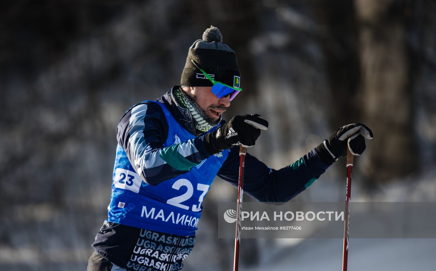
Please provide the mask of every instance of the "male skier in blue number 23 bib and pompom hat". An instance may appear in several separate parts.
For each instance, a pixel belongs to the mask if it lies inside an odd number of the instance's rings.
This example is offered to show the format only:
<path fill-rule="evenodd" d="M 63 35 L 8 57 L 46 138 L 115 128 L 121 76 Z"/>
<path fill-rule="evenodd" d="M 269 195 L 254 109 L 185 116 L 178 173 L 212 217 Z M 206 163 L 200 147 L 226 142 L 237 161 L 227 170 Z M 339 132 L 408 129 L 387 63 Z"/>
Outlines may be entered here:
<path fill-rule="evenodd" d="M 181 86 L 130 108 L 117 128 L 109 218 L 95 238 L 88 271 L 180 270 L 192 251 L 202 206 L 215 176 L 238 186 L 239 146 L 251 147 L 268 122 L 221 114 L 242 90 L 235 52 L 210 27 L 189 48 Z M 244 191 L 286 202 L 309 187 L 347 143 L 355 155 L 372 132 L 363 124 L 329 139 L 280 170 L 246 154 Z M 349 140 L 348 140 L 349 139 Z"/>

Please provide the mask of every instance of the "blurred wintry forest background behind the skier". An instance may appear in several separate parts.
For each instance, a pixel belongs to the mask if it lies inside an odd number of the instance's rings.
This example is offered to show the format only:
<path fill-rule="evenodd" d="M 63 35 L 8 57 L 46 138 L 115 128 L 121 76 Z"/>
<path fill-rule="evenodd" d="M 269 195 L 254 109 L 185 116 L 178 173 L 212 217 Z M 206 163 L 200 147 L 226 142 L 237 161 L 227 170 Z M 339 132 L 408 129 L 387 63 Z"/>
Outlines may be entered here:
<path fill-rule="evenodd" d="M 362 122 L 375 138 L 356 159 L 356 197 L 371 200 L 402 183 L 409 188 L 394 200 L 436 200 L 435 189 L 410 197 L 414 181 L 435 180 L 434 1 L 0 6 L 1 270 L 85 270 L 106 218 L 119 119 L 179 84 L 188 48 L 211 24 L 237 53 L 242 74 L 244 91 L 225 118 L 259 113 L 269 120 L 252 154 L 280 168 L 338 127 Z M 334 164 L 295 200 L 342 201 L 344 174 L 343 163 Z M 235 195 L 214 182 L 187 270 L 204 270 L 199 262 L 230 268 L 233 241 L 216 238 L 214 205 Z M 248 269 L 261 258 L 259 246 L 276 244 L 246 240 Z"/>

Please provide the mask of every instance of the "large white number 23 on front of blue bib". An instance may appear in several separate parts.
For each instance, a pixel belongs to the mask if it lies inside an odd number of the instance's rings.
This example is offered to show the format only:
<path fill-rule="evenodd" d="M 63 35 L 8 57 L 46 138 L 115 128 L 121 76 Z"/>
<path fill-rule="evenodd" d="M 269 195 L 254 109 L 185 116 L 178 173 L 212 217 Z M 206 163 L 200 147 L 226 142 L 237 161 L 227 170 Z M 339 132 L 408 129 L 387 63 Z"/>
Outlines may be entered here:
<path fill-rule="evenodd" d="M 175 181 L 172 187 L 176 190 L 180 190 L 180 188 L 182 186 L 187 187 L 187 191 L 184 194 L 181 194 L 180 196 L 170 198 L 169 200 L 167 200 L 167 204 L 170 204 L 170 205 L 173 205 L 173 206 L 185 209 L 185 210 L 189 210 L 191 207 L 192 211 L 194 211 L 194 212 L 201 211 L 201 203 L 203 202 L 204 196 L 206 195 L 206 193 L 209 190 L 209 185 L 197 184 L 197 190 L 203 191 L 203 193 L 201 193 L 200 197 L 198 197 L 198 204 L 193 204 L 192 206 L 187 206 L 187 205 L 184 205 L 181 203 L 189 200 L 192 197 L 192 195 L 194 194 L 194 187 L 192 186 L 191 182 L 187 179 L 180 179 L 180 180 Z"/>

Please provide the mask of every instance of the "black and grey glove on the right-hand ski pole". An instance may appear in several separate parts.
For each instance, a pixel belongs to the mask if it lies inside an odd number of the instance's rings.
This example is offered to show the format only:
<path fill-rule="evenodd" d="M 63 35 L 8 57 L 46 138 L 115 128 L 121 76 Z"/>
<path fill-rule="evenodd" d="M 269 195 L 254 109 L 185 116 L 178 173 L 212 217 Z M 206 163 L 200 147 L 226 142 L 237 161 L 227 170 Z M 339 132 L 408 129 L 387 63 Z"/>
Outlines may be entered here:
<path fill-rule="evenodd" d="M 372 131 L 368 127 L 361 123 L 348 124 L 337 129 L 328 140 L 316 147 L 316 151 L 322 161 L 333 164 L 347 154 L 347 144 L 351 154 L 361 155 L 366 149 L 365 138 L 372 138 Z"/>

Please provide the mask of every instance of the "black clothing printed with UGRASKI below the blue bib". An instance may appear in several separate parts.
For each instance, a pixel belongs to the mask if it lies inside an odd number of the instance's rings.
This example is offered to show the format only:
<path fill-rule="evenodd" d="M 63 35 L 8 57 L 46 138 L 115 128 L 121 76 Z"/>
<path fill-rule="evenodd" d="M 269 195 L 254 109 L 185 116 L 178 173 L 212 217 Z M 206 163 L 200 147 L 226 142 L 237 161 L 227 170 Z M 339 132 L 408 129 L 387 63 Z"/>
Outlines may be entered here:
<path fill-rule="evenodd" d="M 92 244 L 99 252 L 89 258 L 87 271 L 180 270 L 182 261 L 194 248 L 195 235 L 180 236 L 110 223 L 103 224 Z M 114 228 L 118 228 L 117 235 Z M 123 238 L 123 228 L 133 229 L 133 238 L 132 234 Z"/>

